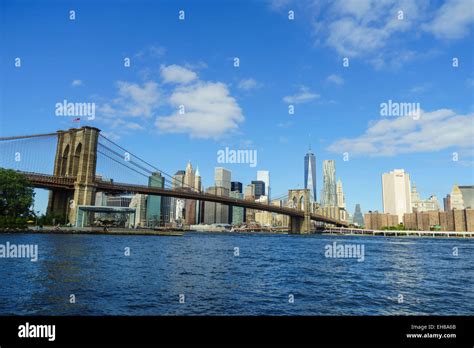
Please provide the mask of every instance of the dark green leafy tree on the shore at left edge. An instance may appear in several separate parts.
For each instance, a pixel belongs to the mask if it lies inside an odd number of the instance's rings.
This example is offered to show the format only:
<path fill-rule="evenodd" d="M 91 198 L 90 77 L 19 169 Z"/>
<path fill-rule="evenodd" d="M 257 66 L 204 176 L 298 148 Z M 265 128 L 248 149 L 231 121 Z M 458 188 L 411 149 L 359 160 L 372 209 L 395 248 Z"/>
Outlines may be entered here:
<path fill-rule="evenodd" d="M 23 174 L 0 168 L 0 216 L 32 216 L 34 196 L 35 192 Z"/>

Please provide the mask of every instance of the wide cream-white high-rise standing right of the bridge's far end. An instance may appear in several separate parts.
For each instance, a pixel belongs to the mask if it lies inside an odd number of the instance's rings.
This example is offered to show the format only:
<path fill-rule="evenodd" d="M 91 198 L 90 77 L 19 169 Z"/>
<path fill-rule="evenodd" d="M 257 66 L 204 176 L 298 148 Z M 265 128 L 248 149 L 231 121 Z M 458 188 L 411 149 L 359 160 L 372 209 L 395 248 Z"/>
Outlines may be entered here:
<path fill-rule="evenodd" d="M 411 213 L 410 175 L 403 169 L 394 169 L 382 175 L 382 199 L 384 213 L 398 216 L 403 222 L 403 214 Z"/>

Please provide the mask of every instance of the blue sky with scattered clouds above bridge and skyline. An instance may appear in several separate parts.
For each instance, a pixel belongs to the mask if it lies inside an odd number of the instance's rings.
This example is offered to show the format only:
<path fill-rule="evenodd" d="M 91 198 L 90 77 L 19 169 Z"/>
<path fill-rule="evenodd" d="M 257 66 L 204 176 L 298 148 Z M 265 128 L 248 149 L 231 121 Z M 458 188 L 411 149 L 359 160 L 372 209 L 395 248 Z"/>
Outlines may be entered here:
<path fill-rule="evenodd" d="M 334 159 L 351 213 L 382 209 L 394 168 L 423 198 L 474 183 L 472 1 L 0 4 L 2 136 L 92 125 L 168 173 L 190 160 L 205 186 L 218 150 L 257 150 L 255 168 L 223 166 L 244 184 L 270 170 L 277 195 L 303 187 L 311 134 L 318 194 Z M 96 118 L 56 116 L 64 99 L 96 103 Z M 388 100 L 420 118 L 381 116 Z"/>

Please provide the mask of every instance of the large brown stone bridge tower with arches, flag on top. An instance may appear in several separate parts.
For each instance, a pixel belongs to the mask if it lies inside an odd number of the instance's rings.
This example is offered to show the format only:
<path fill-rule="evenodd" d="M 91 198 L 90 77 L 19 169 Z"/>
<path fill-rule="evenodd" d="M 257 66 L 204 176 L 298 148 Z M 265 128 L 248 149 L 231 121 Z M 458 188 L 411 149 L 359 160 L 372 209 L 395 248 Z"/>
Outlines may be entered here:
<path fill-rule="evenodd" d="M 54 176 L 73 177 L 74 191 L 53 190 L 50 192 L 48 212 L 67 216 L 71 224 L 76 223 L 78 205 L 95 203 L 95 170 L 97 143 L 100 130 L 94 127 L 71 128 L 58 131 Z"/>

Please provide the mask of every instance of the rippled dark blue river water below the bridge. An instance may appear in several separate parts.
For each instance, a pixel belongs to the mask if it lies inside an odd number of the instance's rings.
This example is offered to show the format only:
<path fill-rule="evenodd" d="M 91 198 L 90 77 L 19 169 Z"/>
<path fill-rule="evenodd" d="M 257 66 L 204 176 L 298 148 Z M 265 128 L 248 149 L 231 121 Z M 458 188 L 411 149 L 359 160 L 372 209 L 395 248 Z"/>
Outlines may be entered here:
<path fill-rule="evenodd" d="M 38 261 L 0 258 L 0 315 L 474 315 L 469 239 L 0 234 L 7 242 L 38 245 Z M 334 242 L 364 257 L 326 257 Z"/>

